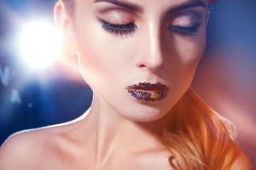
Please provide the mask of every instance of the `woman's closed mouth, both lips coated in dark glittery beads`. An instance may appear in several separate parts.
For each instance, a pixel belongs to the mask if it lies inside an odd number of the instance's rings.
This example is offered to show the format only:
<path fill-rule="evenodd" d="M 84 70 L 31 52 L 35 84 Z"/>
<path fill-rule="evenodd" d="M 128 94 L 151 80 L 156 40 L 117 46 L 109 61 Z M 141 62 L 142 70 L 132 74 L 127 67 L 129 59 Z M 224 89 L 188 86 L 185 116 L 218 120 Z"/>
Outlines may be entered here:
<path fill-rule="evenodd" d="M 151 84 L 149 82 L 139 82 L 138 84 L 128 86 L 126 89 L 128 93 L 137 100 L 154 102 L 165 99 L 169 92 L 169 88 L 160 82 L 155 84 Z"/>

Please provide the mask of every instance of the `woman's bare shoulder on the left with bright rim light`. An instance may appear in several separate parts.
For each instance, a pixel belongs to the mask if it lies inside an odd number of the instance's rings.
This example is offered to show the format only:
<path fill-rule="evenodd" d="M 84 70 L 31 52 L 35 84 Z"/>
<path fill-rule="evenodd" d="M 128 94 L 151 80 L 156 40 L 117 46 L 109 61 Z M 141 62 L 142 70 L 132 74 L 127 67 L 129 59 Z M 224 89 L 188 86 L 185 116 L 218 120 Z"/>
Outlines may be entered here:
<path fill-rule="evenodd" d="M 65 145 L 63 134 L 72 126 L 43 127 L 11 135 L 0 148 L 0 169 L 40 169 L 45 161 L 60 161 L 61 146 Z"/>

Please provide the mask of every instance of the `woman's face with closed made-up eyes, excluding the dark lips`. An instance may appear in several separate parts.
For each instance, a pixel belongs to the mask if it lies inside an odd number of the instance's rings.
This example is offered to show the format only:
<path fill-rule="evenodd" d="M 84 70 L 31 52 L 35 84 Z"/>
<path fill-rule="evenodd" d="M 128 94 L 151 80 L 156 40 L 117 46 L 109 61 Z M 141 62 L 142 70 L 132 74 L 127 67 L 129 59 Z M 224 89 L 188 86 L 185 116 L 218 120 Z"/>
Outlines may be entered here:
<path fill-rule="evenodd" d="M 204 53 L 207 6 L 207 0 L 75 0 L 72 32 L 94 95 L 133 121 L 165 116 Z M 168 94 L 138 100 L 126 88 L 139 82 L 161 82 Z"/>

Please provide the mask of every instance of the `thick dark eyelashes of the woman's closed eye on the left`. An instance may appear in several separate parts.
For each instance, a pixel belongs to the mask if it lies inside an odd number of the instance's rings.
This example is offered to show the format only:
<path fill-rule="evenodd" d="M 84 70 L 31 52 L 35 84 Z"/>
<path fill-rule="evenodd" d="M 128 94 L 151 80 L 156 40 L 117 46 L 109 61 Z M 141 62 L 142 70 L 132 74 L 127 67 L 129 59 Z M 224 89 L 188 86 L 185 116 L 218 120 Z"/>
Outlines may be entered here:
<path fill-rule="evenodd" d="M 126 35 L 132 35 L 134 31 L 137 30 L 137 26 L 133 23 L 129 23 L 126 25 L 116 25 L 109 23 L 105 20 L 100 20 L 102 22 L 102 28 L 106 31 L 116 34 L 118 36 L 126 36 Z"/>

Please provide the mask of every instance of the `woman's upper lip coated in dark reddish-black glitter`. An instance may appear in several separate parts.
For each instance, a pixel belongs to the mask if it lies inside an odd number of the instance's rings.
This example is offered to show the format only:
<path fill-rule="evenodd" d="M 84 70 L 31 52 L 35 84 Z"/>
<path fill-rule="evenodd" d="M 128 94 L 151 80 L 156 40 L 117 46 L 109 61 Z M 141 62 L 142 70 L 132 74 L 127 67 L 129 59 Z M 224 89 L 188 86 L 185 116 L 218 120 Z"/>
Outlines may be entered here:
<path fill-rule="evenodd" d="M 137 84 L 132 84 L 128 86 L 126 89 L 142 89 L 142 90 L 166 90 L 167 87 L 165 84 L 160 82 L 150 83 L 150 82 L 139 82 Z"/>

